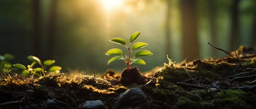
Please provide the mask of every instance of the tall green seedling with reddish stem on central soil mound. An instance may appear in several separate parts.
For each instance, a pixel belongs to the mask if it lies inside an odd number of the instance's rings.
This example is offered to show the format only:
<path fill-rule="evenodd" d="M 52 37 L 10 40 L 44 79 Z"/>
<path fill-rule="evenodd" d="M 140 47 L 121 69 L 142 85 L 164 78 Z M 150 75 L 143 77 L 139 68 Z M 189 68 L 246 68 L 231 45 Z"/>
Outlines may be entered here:
<path fill-rule="evenodd" d="M 146 62 L 142 59 L 135 59 L 136 57 L 139 57 L 139 56 L 147 56 L 147 55 L 152 55 L 152 53 L 148 50 L 139 50 L 135 53 L 135 56 L 133 58 L 131 58 L 131 53 L 133 52 L 133 50 L 136 50 L 136 49 L 140 49 L 140 48 L 143 48 L 145 46 L 147 46 L 148 44 L 147 43 L 144 43 L 144 42 L 137 42 L 135 44 L 133 44 L 131 46 L 131 43 L 136 40 L 136 38 L 140 35 L 140 31 L 138 32 L 135 32 L 134 34 L 131 35 L 130 37 L 130 44 L 127 46 L 126 45 L 126 40 L 122 39 L 122 38 L 112 38 L 111 40 L 109 40 L 110 42 L 114 42 L 116 44 L 120 44 L 120 45 L 125 45 L 125 47 L 127 48 L 128 52 L 129 52 L 129 55 L 125 55 L 125 57 L 123 56 L 123 51 L 120 50 L 120 49 L 110 49 L 106 55 L 119 55 L 119 56 L 115 56 L 111 59 L 109 59 L 108 61 L 108 64 L 116 61 L 116 60 L 120 60 L 120 59 L 123 59 L 125 61 L 125 64 L 127 65 L 127 70 L 129 70 L 130 68 L 130 65 L 131 64 L 142 64 L 142 65 L 145 65 Z"/>

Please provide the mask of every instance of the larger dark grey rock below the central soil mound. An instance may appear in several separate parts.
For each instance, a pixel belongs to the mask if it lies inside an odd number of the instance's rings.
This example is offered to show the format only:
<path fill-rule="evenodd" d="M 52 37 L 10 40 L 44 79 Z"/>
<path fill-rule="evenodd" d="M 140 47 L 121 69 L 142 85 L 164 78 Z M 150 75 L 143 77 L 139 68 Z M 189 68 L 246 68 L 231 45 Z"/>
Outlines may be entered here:
<path fill-rule="evenodd" d="M 123 106 L 135 106 L 142 104 L 147 98 L 147 95 L 142 88 L 127 89 L 124 93 L 121 93 L 114 104 L 114 109 L 120 109 Z"/>

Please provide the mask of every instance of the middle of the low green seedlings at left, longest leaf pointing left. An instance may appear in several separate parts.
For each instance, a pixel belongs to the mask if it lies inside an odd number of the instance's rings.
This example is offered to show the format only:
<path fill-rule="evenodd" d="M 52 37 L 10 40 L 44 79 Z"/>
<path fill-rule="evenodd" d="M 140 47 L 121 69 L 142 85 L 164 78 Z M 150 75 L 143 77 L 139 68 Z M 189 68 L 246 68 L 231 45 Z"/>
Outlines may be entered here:
<path fill-rule="evenodd" d="M 22 65 L 22 64 L 13 64 L 13 66 L 15 66 L 15 67 L 17 67 L 17 68 L 20 68 L 20 69 L 22 69 L 23 71 L 22 71 L 22 74 L 23 75 L 30 75 L 30 76 L 33 76 L 36 72 L 40 72 L 40 71 L 43 71 L 44 69 L 42 69 L 42 68 L 35 68 L 35 69 L 33 69 L 33 66 L 35 65 L 35 63 L 32 63 L 31 65 L 27 65 L 27 68 L 24 66 L 24 65 Z M 41 74 L 41 72 L 40 72 L 40 74 Z M 41 76 L 42 76 L 42 74 L 41 74 Z"/>

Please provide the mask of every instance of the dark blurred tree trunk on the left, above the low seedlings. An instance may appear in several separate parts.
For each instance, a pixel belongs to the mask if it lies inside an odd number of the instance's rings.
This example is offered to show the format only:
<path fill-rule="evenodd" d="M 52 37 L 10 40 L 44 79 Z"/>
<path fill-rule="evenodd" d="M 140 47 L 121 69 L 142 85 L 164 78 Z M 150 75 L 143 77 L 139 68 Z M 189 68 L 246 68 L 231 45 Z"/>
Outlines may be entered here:
<path fill-rule="evenodd" d="M 40 16 L 40 1 L 32 0 L 33 5 L 33 55 L 41 56 L 41 16 Z"/>

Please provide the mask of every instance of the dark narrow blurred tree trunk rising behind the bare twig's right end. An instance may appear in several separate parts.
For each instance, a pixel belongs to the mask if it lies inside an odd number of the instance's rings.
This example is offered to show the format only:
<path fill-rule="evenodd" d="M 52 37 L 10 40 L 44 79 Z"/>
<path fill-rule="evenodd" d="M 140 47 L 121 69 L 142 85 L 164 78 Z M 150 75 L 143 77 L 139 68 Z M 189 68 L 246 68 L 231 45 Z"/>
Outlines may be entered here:
<path fill-rule="evenodd" d="M 239 12 L 238 12 L 238 5 L 239 5 L 240 0 L 234 0 L 233 1 L 233 6 L 231 8 L 231 45 L 230 45 L 230 50 L 234 51 L 236 50 L 239 45 Z M 241 36 L 243 37 L 243 36 Z"/>

